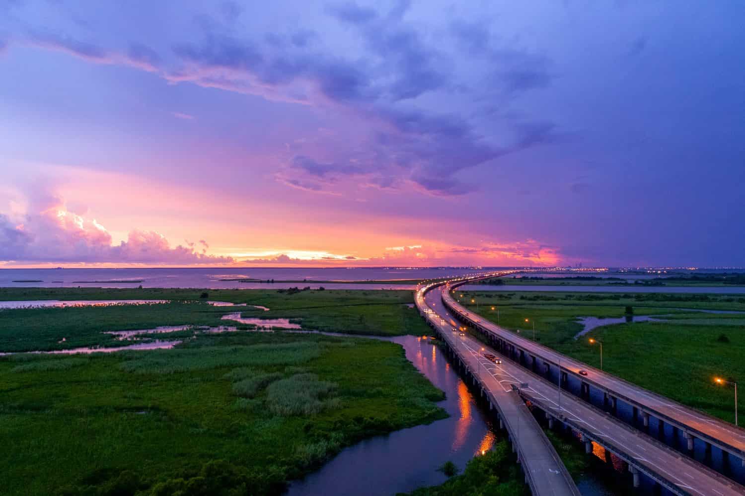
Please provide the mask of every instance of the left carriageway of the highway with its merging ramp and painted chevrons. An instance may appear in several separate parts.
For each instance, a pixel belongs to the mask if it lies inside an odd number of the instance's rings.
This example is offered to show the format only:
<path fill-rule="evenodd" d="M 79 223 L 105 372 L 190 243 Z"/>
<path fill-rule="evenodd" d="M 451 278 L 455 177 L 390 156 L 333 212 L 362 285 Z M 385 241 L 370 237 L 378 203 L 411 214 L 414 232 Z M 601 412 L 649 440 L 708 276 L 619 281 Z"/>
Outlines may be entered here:
<path fill-rule="evenodd" d="M 430 290 L 431 286 L 420 289 L 417 292 L 417 305 L 422 311 L 428 313 L 428 321 L 448 343 L 451 351 L 457 356 L 457 359 L 463 363 L 463 366 L 472 375 L 472 381 L 484 389 L 485 394 L 492 401 L 492 404 L 499 410 L 501 418 L 507 424 L 507 430 L 513 442 L 516 442 L 516 449 L 519 457 L 524 464 L 526 478 L 528 474 L 532 478 L 531 489 L 534 494 L 538 491 L 552 491 L 554 489 L 542 489 L 539 487 L 539 480 L 547 481 L 547 486 L 553 486 L 555 480 L 553 470 L 563 471 L 565 468 L 558 462 L 558 466 L 551 466 L 555 451 L 553 454 L 546 455 L 547 451 L 539 454 L 530 452 L 528 445 L 541 446 L 544 441 L 533 438 L 530 441 L 527 435 L 518 431 L 518 427 L 527 427 L 530 425 L 525 416 L 520 416 L 521 411 L 527 411 L 527 408 L 514 401 L 516 393 L 513 392 L 512 385 L 527 383 L 528 387 L 520 389 L 520 394 L 537 407 L 544 410 L 548 416 L 558 419 L 570 426 L 577 432 L 583 434 L 583 439 L 592 440 L 598 445 L 611 451 L 629 464 L 629 469 L 634 474 L 635 482 L 641 474 L 646 474 L 650 479 L 655 480 L 661 486 L 665 487 L 674 494 L 679 495 L 712 495 L 712 496 L 734 496 L 745 494 L 745 488 L 732 482 L 722 474 L 707 468 L 706 466 L 679 454 L 672 448 L 668 448 L 655 439 L 652 439 L 641 430 L 635 430 L 633 427 L 625 425 L 618 419 L 613 418 L 608 413 L 603 412 L 585 401 L 577 398 L 568 392 L 559 392 L 557 384 L 547 381 L 540 375 L 530 372 L 523 366 L 507 360 L 504 357 L 500 365 L 483 357 L 482 349 L 491 352 L 497 356 L 500 353 L 496 349 L 491 349 L 474 337 L 460 336 L 458 333 L 451 331 L 456 325 L 451 311 L 443 305 L 443 296 L 440 290 Z M 429 314 L 429 312 L 432 314 Z M 563 361 L 562 361 L 563 366 Z M 532 414 L 530 414 L 532 417 Z M 535 419 L 531 418 L 533 422 Z M 524 423 L 522 423 L 524 421 Z M 536 427 L 533 426 L 528 431 L 536 433 Z M 538 429 L 539 430 L 539 429 Z M 540 436 L 545 436 L 540 432 Z M 521 442 L 522 436 L 522 442 Z M 545 439 L 548 442 L 548 439 Z M 532 468 L 530 457 L 536 457 L 536 468 Z M 557 463 L 556 460 L 553 461 Z M 561 478 L 565 478 L 562 475 Z M 573 484 L 572 484 L 573 486 Z M 576 491 L 567 486 L 565 491 Z M 544 493 L 540 493 L 544 494 Z M 554 493 L 545 493 L 554 494 Z"/>

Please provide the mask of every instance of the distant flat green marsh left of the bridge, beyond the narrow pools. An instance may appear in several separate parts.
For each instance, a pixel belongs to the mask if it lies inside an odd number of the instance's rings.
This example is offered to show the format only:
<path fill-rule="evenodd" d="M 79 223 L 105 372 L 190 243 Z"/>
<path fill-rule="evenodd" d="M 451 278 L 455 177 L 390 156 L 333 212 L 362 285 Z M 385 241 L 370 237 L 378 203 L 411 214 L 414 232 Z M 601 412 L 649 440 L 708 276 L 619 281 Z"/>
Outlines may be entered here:
<path fill-rule="evenodd" d="M 107 307 L 22 308 L 0 310 L 0 352 L 32 352 L 83 346 L 125 346 L 104 331 L 133 331 L 159 325 L 218 326 L 232 307 L 209 305 L 203 290 L 104 288 L 0 288 L 0 300 L 22 299 L 161 299 L 168 303 Z M 240 307 L 245 317 L 288 318 L 302 328 L 351 334 L 425 334 L 428 327 L 407 290 L 309 290 L 297 294 L 276 290 L 209 290 L 211 299 L 262 305 L 270 311 Z M 239 325 L 250 331 L 256 325 Z M 169 334 L 182 338 L 191 331 Z M 143 338 L 161 338 L 148 334 Z M 65 338 L 64 342 L 60 341 Z"/>

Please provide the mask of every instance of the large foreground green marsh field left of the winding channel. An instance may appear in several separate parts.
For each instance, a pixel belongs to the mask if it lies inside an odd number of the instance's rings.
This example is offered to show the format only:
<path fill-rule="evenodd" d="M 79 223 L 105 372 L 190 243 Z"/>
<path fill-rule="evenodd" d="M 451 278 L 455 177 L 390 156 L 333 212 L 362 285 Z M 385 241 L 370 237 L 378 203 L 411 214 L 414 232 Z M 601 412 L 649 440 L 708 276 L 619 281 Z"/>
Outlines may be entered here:
<path fill-rule="evenodd" d="M 345 445 L 442 418 L 440 399 L 399 346 L 317 334 L 0 357 L 2 492 L 278 494 Z"/>

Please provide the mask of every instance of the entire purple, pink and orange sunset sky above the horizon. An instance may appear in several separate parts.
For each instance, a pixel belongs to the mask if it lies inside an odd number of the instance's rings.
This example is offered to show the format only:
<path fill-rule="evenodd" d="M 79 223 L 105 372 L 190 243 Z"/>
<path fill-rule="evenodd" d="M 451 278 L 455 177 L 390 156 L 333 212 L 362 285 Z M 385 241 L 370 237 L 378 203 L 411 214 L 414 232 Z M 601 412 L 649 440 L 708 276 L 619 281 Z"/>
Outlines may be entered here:
<path fill-rule="evenodd" d="M 743 267 L 744 17 L 2 0 L 0 267 Z"/>

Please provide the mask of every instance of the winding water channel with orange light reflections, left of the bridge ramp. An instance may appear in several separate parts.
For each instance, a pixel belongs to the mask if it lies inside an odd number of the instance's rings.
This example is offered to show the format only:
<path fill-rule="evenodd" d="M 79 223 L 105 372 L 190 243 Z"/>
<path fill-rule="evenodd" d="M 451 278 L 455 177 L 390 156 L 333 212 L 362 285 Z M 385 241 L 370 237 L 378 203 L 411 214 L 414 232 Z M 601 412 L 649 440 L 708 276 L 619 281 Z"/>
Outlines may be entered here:
<path fill-rule="evenodd" d="M 475 454 L 494 445 L 490 420 L 440 348 L 424 337 L 390 340 L 404 346 L 408 360 L 446 393 L 438 405 L 450 417 L 346 448 L 319 471 L 292 483 L 289 495 L 394 495 L 435 486 L 446 480 L 437 471 L 443 463 L 450 460 L 463 471 Z"/>

